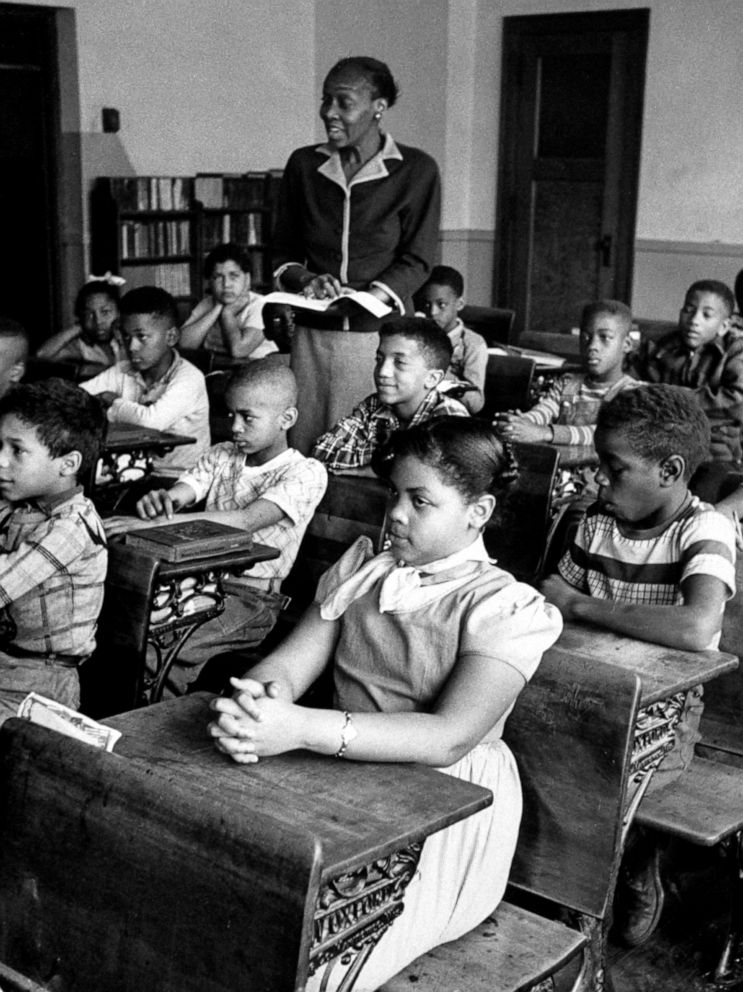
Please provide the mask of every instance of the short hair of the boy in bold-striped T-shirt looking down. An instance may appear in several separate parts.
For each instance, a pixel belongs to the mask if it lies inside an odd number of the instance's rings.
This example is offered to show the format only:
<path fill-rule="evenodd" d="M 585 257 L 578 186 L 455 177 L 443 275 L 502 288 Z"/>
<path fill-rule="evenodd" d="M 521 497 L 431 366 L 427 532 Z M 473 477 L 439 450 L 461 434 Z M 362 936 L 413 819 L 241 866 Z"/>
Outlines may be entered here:
<path fill-rule="evenodd" d="M 596 434 L 607 431 L 621 433 L 635 455 L 649 462 L 680 455 L 686 479 L 709 458 L 709 420 L 685 386 L 659 383 L 622 390 L 599 409 Z"/>

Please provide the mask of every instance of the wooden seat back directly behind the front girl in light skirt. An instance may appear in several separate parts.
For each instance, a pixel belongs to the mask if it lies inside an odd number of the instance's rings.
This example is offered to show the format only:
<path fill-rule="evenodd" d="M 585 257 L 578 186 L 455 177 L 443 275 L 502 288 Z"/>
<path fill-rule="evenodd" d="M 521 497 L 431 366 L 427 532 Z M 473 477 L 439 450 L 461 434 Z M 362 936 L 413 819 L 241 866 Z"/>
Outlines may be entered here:
<path fill-rule="evenodd" d="M 504 734 L 524 789 L 514 890 L 605 917 L 639 700 L 633 673 L 562 652 L 542 659 Z"/>

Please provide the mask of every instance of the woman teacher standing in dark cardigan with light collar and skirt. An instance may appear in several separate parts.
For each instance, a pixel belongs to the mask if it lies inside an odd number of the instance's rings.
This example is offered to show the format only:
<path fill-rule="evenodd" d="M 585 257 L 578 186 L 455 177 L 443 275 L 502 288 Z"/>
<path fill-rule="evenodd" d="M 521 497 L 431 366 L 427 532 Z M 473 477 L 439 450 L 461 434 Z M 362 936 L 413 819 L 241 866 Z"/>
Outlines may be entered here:
<path fill-rule="evenodd" d="M 341 59 L 323 84 L 327 142 L 289 158 L 274 231 L 278 286 L 314 299 L 363 289 L 413 314 L 412 295 L 434 264 L 441 184 L 434 160 L 397 144 L 383 129 L 398 95 L 384 62 Z M 292 444 L 315 439 L 374 392 L 379 321 L 339 303 L 317 314 L 298 309 L 291 365 L 299 387 Z"/>

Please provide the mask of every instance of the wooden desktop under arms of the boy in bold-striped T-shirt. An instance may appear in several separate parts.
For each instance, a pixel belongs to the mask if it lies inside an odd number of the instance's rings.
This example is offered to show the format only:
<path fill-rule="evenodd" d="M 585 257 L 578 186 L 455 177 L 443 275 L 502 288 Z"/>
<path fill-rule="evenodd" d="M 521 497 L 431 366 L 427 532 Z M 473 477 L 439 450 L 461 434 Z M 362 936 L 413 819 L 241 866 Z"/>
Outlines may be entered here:
<path fill-rule="evenodd" d="M 591 624 L 566 623 L 550 652 L 619 665 L 640 676 L 643 706 L 732 672 L 738 659 L 724 651 L 684 651 L 623 637 Z"/>

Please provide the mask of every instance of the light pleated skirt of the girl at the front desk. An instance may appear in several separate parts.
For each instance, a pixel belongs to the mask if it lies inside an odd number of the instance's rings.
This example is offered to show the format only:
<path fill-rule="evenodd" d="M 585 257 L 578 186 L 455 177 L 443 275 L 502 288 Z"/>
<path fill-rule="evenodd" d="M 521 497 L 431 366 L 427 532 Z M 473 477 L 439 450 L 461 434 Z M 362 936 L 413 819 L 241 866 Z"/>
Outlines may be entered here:
<path fill-rule="evenodd" d="M 449 775 L 490 789 L 493 804 L 426 839 L 404 909 L 361 970 L 354 992 L 373 992 L 421 954 L 456 940 L 481 923 L 503 898 L 521 822 L 521 783 L 502 741 L 479 744 L 446 769 Z M 329 992 L 346 968 L 332 969 Z M 320 987 L 324 969 L 307 983 Z"/>

